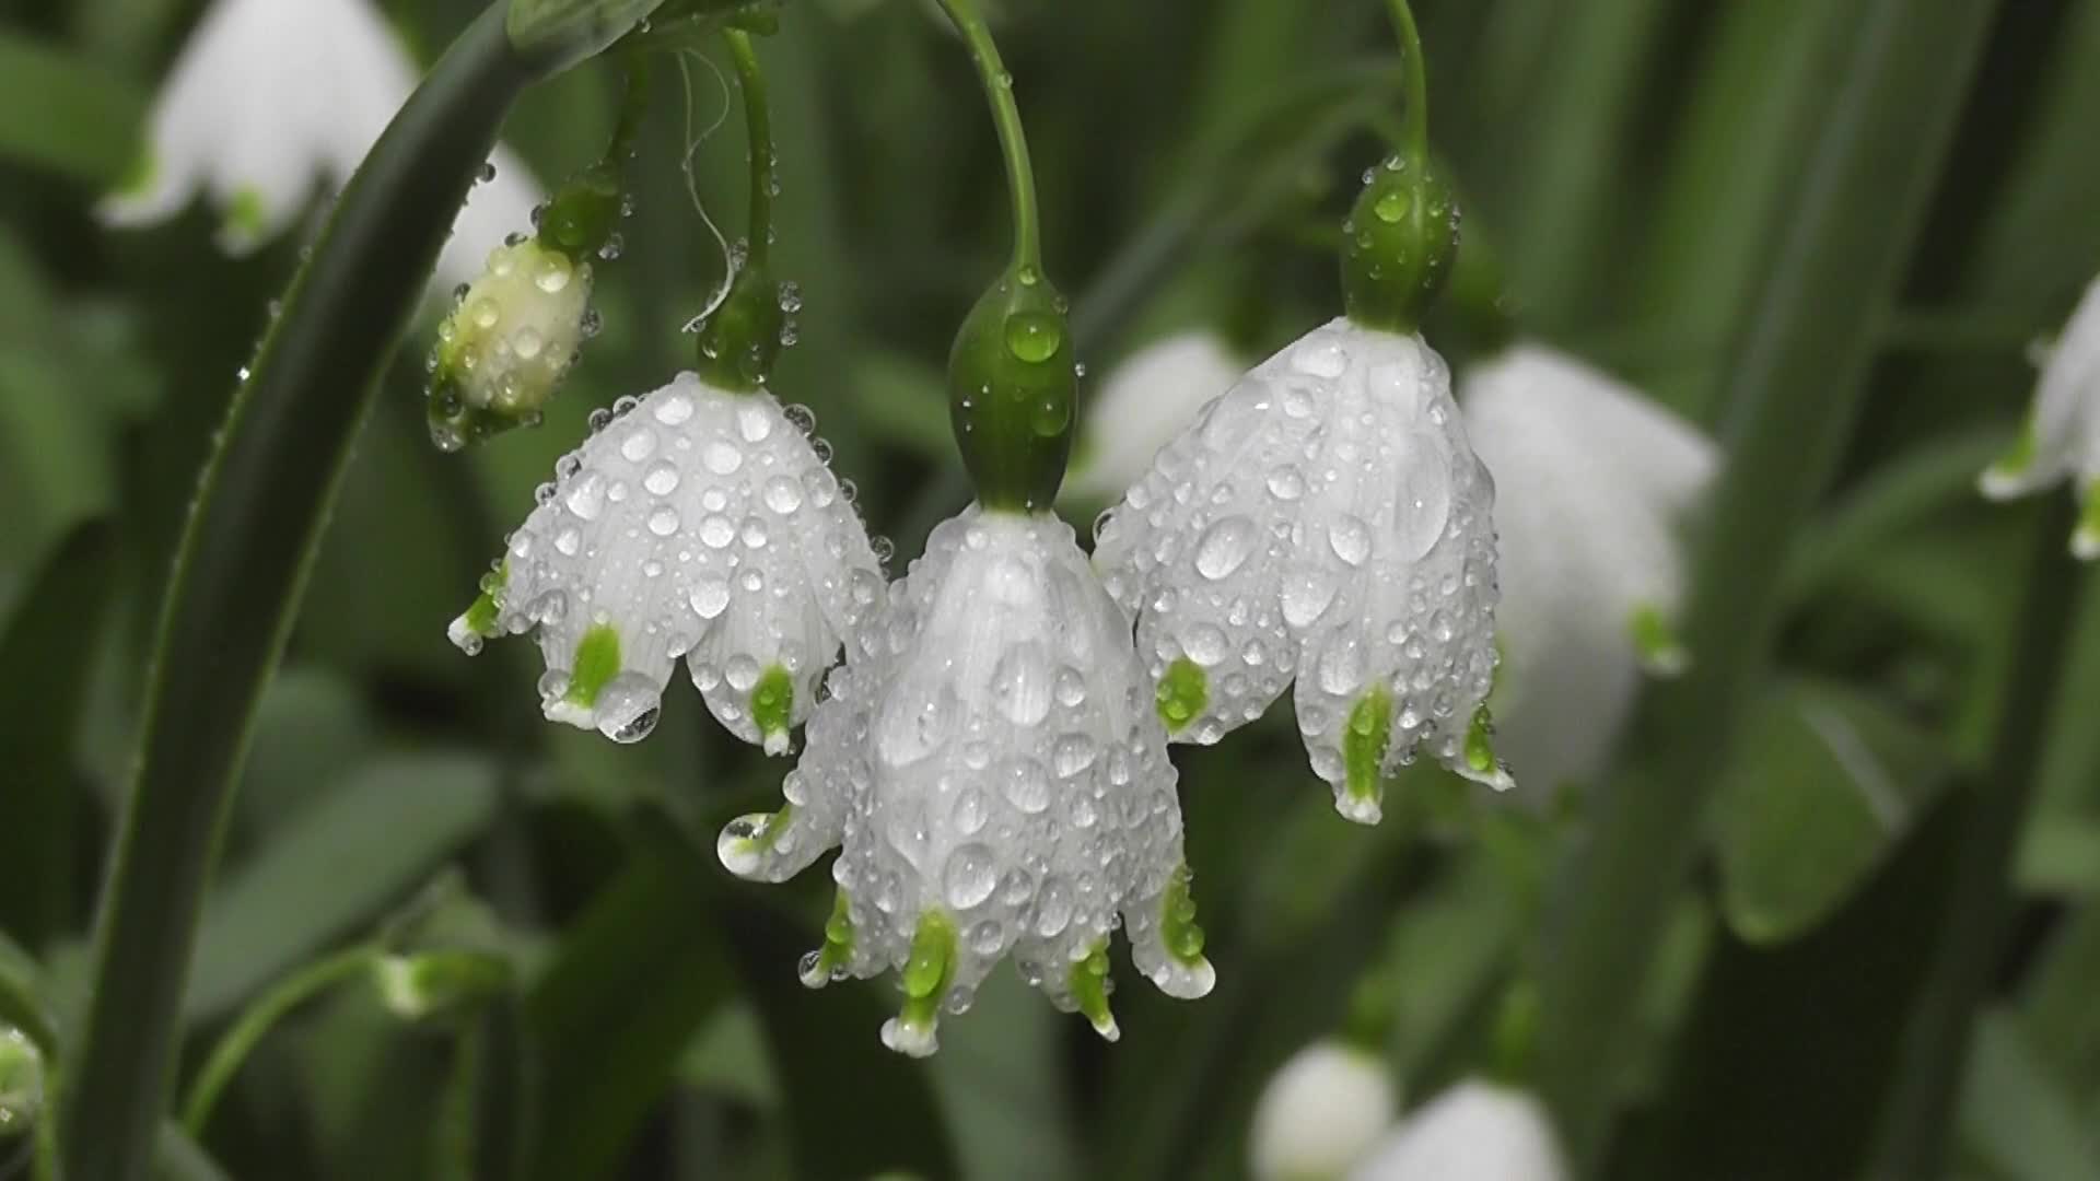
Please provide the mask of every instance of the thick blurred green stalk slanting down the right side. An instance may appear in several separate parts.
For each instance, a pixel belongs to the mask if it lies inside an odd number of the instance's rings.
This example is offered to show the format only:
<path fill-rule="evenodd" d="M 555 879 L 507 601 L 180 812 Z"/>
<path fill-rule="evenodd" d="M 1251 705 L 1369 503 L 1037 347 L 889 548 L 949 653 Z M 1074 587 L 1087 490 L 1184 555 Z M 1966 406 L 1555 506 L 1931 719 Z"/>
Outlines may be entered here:
<path fill-rule="evenodd" d="M 1636 983 L 1699 851 L 1735 721 L 1779 626 L 1779 557 L 1852 433 L 1873 328 L 1898 292 L 1995 8 L 1949 0 L 1928 15 L 1873 0 L 1726 366 L 1739 418 L 1686 614 L 1699 660 L 1642 700 L 1634 773 L 1598 799 L 1546 956 L 1539 1082 L 1579 1156 L 1604 1139 Z"/>

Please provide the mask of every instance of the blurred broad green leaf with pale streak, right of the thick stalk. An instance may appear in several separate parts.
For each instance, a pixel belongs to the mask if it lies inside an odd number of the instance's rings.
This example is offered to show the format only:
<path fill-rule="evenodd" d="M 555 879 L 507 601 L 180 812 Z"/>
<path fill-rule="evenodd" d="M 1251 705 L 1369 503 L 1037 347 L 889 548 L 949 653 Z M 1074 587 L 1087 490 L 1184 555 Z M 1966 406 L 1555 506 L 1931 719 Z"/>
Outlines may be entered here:
<path fill-rule="evenodd" d="M 1835 910 L 1947 786 L 1934 738 L 1871 698 L 1793 681 L 1764 698 L 1720 788 L 1722 910 L 1779 944 Z"/>

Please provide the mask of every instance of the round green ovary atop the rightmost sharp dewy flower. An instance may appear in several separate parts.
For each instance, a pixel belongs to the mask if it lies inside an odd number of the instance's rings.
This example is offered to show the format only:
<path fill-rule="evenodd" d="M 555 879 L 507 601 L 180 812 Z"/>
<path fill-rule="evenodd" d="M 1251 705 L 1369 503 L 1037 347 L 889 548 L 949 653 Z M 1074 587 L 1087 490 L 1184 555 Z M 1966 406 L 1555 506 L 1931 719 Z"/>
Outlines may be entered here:
<path fill-rule="evenodd" d="M 1342 235 L 1348 317 L 1413 332 L 1457 261 L 1457 198 L 1426 158 L 1394 156 L 1369 172 Z"/>

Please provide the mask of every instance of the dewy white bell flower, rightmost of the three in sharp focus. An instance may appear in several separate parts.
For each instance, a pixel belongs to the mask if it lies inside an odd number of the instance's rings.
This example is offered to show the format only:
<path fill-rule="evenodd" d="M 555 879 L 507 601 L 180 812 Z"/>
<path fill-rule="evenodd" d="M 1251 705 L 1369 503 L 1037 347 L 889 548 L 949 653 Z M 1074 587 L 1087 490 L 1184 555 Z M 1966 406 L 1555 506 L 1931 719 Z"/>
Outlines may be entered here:
<path fill-rule="evenodd" d="M 1218 742 L 1296 679 L 1342 815 L 1415 750 L 1510 786 L 1495 677 L 1495 483 L 1420 336 L 1336 319 L 1262 361 L 1096 532 L 1168 731 Z"/>

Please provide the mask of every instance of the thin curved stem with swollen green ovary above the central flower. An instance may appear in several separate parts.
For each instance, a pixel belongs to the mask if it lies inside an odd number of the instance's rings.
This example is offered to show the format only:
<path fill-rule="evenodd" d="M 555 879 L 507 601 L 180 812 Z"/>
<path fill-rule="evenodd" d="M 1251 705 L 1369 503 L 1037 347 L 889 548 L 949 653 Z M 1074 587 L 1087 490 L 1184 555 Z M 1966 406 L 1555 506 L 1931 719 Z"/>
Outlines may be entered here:
<path fill-rule="evenodd" d="M 991 103 L 1014 206 L 1014 254 L 956 334 L 947 361 L 949 422 L 976 500 L 991 511 L 1048 511 L 1071 458 L 1079 378 L 1065 296 L 1044 275 L 1035 168 L 1014 80 L 972 0 L 941 0 Z"/>

